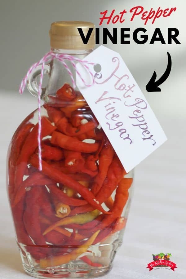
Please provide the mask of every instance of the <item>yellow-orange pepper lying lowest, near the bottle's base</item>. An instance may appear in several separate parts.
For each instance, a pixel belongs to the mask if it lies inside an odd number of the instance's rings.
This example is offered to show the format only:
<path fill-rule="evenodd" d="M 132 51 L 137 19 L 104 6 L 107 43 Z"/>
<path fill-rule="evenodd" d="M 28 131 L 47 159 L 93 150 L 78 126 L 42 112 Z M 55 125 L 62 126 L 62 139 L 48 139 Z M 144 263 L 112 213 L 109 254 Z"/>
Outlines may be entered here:
<path fill-rule="evenodd" d="M 79 248 L 73 250 L 73 252 L 69 254 L 55 256 L 47 259 L 40 259 L 40 268 L 53 267 L 64 263 L 69 263 L 70 260 L 75 260 L 78 256 L 88 250 L 88 247 L 91 246 L 92 243 L 95 241 L 99 232 L 100 231 L 95 232 L 83 245 L 79 246 Z"/>

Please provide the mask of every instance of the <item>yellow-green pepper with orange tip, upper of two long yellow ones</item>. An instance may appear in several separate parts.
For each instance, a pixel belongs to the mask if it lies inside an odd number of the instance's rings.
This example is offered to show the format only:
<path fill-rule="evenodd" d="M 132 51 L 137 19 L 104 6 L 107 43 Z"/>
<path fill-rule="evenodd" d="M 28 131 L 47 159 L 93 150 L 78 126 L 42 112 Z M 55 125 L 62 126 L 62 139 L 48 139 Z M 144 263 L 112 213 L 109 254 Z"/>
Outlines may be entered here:
<path fill-rule="evenodd" d="M 48 232 L 52 231 L 54 228 L 59 226 L 64 226 L 68 224 L 85 224 L 88 222 L 91 222 L 94 220 L 98 215 L 100 214 L 100 211 L 95 209 L 93 211 L 82 213 L 70 217 L 66 217 L 62 220 L 57 221 L 55 224 L 49 226 L 44 232 L 43 235 L 47 234 Z"/>

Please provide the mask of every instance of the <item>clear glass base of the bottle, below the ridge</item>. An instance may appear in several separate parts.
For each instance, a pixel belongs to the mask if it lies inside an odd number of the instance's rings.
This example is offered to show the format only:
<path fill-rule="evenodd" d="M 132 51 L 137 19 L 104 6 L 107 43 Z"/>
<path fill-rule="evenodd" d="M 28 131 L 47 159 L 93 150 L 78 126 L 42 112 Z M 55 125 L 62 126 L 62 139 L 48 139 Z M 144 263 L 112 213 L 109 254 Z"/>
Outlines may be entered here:
<path fill-rule="evenodd" d="M 71 260 L 68 263 L 64 263 L 58 266 L 42 268 L 38 260 L 33 259 L 32 255 L 28 252 L 30 247 L 18 244 L 20 248 L 20 255 L 22 258 L 24 271 L 32 277 L 36 278 L 95 278 L 104 276 L 112 268 L 112 262 L 116 254 L 116 250 L 121 246 L 122 241 L 118 239 L 113 243 L 93 245 L 90 246 L 87 257 L 91 258 L 92 263 L 96 265 L 90 265 L 83 261 L 81 258 Z M 33 247 L 32 247 L 33 248 Z M 36 254 L 38 247 L 30 252 Z M 62 248 L 61 248 L 62 249 Z M 43 252 L 42 247 L 40 251 Z M 98 264 L 100 266 L 98 266 Z"/>

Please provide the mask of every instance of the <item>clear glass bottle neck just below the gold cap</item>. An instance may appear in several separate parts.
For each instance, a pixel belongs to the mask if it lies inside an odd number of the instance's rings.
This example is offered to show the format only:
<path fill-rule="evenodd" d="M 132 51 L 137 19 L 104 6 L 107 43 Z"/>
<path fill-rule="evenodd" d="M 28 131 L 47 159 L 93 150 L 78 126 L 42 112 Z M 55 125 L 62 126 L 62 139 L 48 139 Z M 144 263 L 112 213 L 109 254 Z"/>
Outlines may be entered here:
<path fill-rule="evenodd" d="M 67 50 L 67 49 L 54 49 L 52 48 L 51 51 L 53 53 L 57 54 L 68 54 L 72 55 L 78 59 L 84 59 L 88 54 L 90 54 L 93 50 Z M 69 60 L 64 61 L 65 64 L 68 66 L 69 70 L 73 74 L 73 79 L 76 82 L 76 71 L 72 65 L 72 63 Z M 75 62 L 75 61 L 74 61 Z M 75 62 L 76 63 L 76 62 Z M 53 59 L 50 62 L 50 73 L 49 73 L 49 81 L 46 87 L 45 94 L 43 96 L 43 100 L 45 103 L 51 103 L 50 96 L 54 97 L 55 93 L 58 89 L 60 89 L 64 83 L 69 83 L 71 86 L 72 79 L 67 71 L 67 69 L 64 67 L 63 63 L 59 61 L 57 58 Z M 78 88 L 75 88 L 78 90 Z"/>

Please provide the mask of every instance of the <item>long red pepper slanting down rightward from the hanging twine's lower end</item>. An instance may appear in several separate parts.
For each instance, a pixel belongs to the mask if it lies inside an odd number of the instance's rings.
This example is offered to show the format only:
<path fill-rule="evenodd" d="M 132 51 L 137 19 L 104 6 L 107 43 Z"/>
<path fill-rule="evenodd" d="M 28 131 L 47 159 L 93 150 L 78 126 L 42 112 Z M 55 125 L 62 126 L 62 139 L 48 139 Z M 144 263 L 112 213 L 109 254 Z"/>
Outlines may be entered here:
<path fill-rule="evenodd" d="M 38 167 L 38 157 L 33 155 L 30 159 L 30 163 L 34 167 Z M 77 181 L 73 180 L 68 175 L 60 172 L 59 170 L 51 167 L 47 162 L 42 160 L 42 172 L 49 176 L 50 178 L 54 179 L 58 183 L 62 183 L 69 188 L 73 188 L 76 190 L 89 204 L 91 204 L 95 209 L 100 210 L 101 212 L 107 214 L 107 212 L 96 202 L 95 196 L 82 184 L 78 183 Z M 64 202 L 65 203 L 65 202 Z"/>

